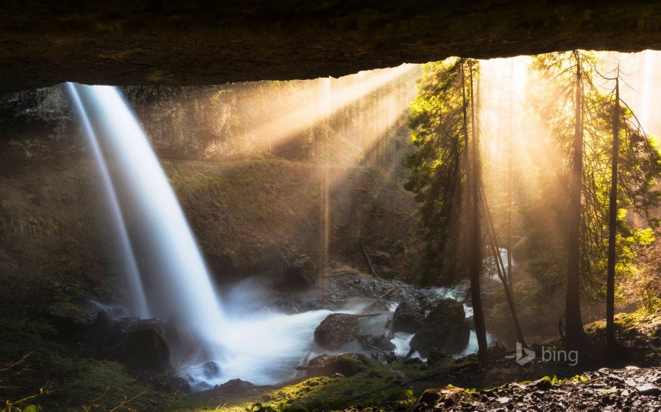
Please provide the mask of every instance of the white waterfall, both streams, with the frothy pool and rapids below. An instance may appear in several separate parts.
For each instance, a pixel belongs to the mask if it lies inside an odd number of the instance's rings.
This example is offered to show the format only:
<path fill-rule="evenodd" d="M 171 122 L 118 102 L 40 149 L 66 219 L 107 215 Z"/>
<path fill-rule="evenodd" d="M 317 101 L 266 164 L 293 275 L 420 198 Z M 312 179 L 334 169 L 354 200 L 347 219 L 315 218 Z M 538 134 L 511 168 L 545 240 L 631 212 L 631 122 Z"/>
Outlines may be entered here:
<path fill-rule="evenodd" d="M 135 314 L 168 319 L 165 339 L 172 364 L 193 389 L 233 378 L 257 385 L 276 383 L 292 378 L 294 367 L 305 359 L 328 353 L 316 347 L 313 332 L 331 311 L 281 314 L 259 309 L 255 302 L 262 301 L 262 296 L 250 286 L 231 291 L 228 303 L 222 303 L 177 197 L 117 89 L 79 84 L 68 84 L 68 88 L 113 211 L 135 295 Z M 118 197 L 118 192 L 124 196 Z M 142 288 L 146 280 L 148 293 Z M 456 297 L 461 291 L 432 293 Z M 368 303 L 355 302 L 340 312 L 357 314 Z M 390 306 L 390 314 L 361 319 L 363 333 L 383 333 L 395 307 Z M 465 305 L 465 309 L 472 314 L 472 308 Z M 474 335 L 465 354 L 477 350 Z M 411 337 L 394 335 L 391 341 L 398 354 L 409 352 Z M 342 348 L 346 351 L 368 353 L 357 343 Z"/>

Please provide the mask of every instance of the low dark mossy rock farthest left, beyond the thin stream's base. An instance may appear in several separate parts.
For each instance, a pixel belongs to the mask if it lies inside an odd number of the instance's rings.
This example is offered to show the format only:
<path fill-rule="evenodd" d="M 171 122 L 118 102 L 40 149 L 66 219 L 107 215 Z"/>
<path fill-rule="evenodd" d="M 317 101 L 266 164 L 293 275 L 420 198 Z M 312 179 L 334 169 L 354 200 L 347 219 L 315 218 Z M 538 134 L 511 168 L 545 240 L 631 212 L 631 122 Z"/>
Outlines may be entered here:
<path fill-rule="evenodd" d="M 86 331 L 107 321 L 100 305 L 90 300 L 71 300 L 53 303 L 46 317 L 61 331 Z"/>

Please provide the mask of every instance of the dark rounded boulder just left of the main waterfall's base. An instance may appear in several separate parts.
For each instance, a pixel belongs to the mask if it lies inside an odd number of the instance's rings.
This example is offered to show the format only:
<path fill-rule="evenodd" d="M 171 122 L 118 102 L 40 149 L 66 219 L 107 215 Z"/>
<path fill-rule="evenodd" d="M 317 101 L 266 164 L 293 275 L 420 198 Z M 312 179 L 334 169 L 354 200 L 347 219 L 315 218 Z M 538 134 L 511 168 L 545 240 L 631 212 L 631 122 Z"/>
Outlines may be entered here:
<path fill-rule="evenodd" d="M 160 335 L 152 329 L 129 334 L 117 345 L 114 355 L 115 360 L 128 368 L 150 375 L 162 375 L 170 368 L 169 349 Z"/>

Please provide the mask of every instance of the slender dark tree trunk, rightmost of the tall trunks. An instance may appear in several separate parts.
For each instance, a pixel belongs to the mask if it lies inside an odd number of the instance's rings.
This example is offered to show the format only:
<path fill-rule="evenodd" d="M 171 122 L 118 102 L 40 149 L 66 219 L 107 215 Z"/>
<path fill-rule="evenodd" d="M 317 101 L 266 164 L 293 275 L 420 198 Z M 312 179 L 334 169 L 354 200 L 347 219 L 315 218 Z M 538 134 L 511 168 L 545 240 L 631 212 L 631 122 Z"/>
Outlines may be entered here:
<path fill-rule="evenodd" d="M 606 281 L 606 343 L 609 350 L 615 340 L 615 237 L 617 234 L 617 168 L 620 157 L 620 68 L 615 78 L 615 107 L 612 111 L 612 164 L 610 174 L 610 210 L 608 215 L 608 279 Z"/>

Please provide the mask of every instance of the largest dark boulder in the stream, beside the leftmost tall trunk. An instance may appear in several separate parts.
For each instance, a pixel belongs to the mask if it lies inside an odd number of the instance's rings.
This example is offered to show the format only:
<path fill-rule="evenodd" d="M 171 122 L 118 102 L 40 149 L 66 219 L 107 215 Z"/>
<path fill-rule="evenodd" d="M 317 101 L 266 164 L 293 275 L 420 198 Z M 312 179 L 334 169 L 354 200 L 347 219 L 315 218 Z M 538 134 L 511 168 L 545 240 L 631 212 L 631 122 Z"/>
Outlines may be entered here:
<path fill-rule="evenodd" d="M 461 352 L 470 338 L 463 305 L 454 299 L 439 300 L 418 333 L 411 339 L 411 349 L 428 357 L 432 347 L 449 353 Z"/>

